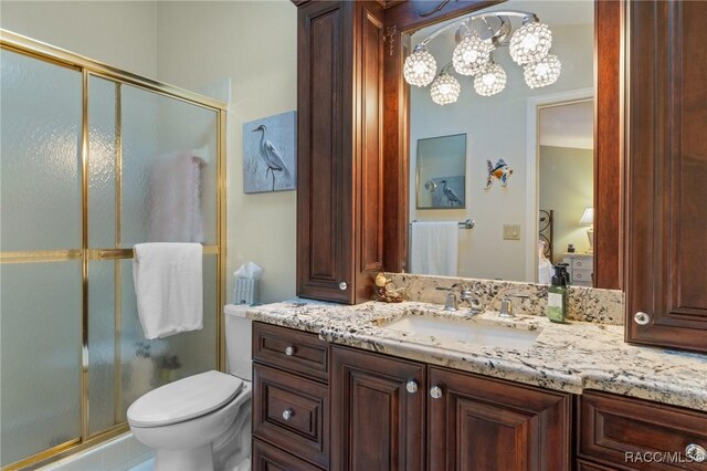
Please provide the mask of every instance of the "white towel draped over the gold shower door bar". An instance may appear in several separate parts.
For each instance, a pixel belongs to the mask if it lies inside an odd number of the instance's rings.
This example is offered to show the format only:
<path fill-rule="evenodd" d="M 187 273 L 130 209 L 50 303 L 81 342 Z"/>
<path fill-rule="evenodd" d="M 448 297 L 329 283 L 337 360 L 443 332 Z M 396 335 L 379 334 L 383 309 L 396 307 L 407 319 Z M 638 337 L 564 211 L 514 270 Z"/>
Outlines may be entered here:
<path fill-rule="evenodd" d="M 202 247 L 199 243 L 135 245 L 133 281 L 145 338 L 161 338 L 203 324 Z"/>

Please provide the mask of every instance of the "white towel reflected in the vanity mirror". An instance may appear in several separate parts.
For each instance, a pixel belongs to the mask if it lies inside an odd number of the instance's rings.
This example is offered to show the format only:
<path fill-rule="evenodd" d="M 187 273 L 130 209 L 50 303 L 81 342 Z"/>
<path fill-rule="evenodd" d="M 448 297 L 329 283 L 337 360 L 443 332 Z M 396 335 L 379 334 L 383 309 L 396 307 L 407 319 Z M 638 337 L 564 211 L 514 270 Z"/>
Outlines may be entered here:
<path fill-rule="evenodd" d="M 454 222 L 413 222 L 410 272 L 456 276 L 460 229 Z"/>

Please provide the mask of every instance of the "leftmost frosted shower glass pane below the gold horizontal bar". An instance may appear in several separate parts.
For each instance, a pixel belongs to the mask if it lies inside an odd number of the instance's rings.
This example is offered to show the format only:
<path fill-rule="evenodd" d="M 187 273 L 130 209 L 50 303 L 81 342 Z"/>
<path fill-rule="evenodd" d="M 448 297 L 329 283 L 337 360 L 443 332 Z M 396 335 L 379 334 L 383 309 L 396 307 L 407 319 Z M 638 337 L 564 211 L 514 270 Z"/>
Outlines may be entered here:
<path fill-rule="evenodd" d="M 6 465 L 81 437 L 81 262 L 4 263 L 0 280 Z"/>

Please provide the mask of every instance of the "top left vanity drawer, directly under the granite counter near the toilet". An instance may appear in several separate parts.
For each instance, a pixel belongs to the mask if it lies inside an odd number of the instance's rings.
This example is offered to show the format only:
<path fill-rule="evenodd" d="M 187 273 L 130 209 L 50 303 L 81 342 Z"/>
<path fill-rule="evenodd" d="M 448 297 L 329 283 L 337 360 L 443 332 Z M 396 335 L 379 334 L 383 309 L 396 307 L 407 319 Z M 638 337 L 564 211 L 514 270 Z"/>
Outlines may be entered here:
<path fill-rule="evenodd" d="M 253 360 L 327 381 L 327 343 L 315 334 L 253 323 Z"/>

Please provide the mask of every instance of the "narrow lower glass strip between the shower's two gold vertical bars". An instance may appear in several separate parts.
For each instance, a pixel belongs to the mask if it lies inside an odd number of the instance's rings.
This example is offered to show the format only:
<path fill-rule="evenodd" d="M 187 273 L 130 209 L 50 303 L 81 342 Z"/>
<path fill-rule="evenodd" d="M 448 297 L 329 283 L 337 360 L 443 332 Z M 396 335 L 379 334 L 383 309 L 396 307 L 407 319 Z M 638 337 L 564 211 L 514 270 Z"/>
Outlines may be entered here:
<path fill-rule="evenodd" d="M 88 435 L 116 425 L 115 266 L 88 263 Z M 119 384 L 117 385 L 119 387 Z"/>

